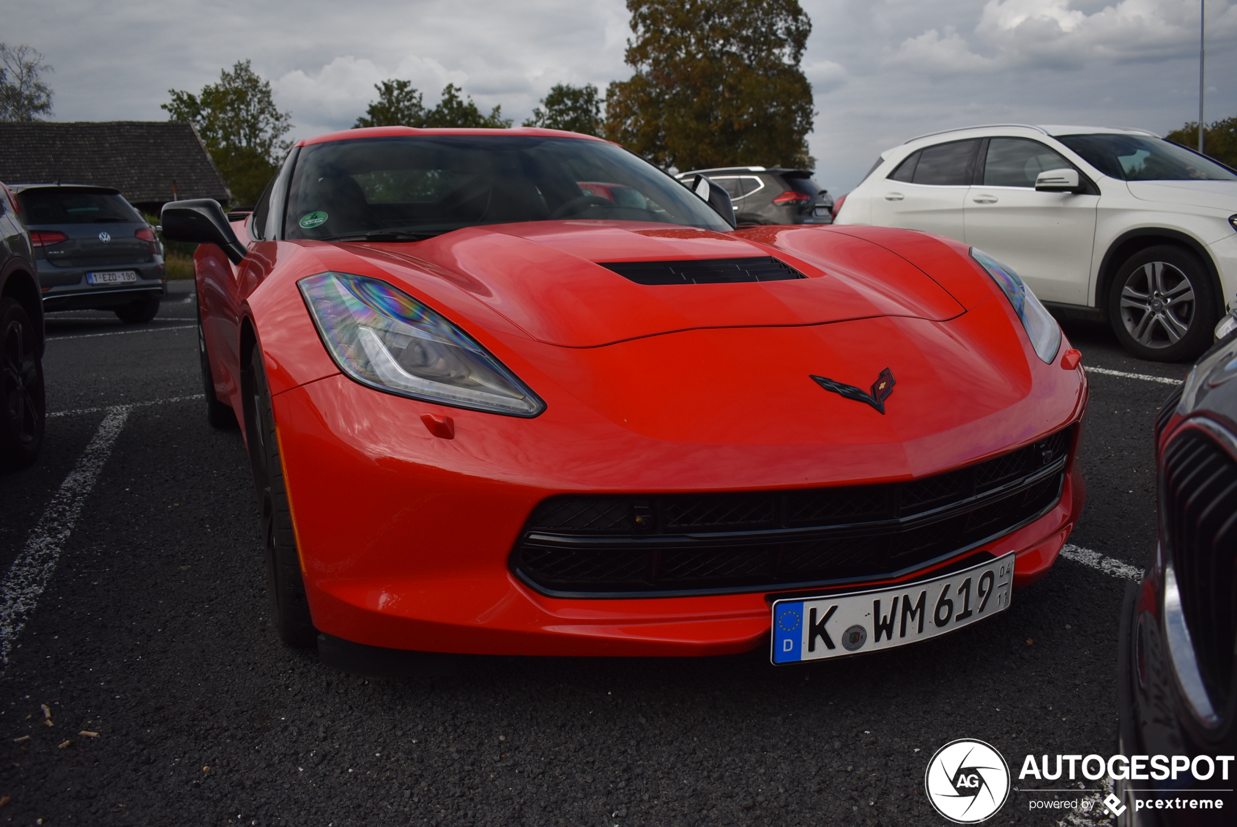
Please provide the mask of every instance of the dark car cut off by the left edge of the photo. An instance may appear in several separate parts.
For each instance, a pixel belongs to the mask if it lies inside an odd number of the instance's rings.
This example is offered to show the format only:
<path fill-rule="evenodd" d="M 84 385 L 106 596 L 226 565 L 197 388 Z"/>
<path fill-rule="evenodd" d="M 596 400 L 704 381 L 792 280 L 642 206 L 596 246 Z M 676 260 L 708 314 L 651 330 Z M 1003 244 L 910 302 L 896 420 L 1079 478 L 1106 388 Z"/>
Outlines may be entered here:
<path fill-rule="evenodd" d="M 0 469 L 30 465 L 43 444 L 43 308 L 21 203 L 0 184 Z"/>

